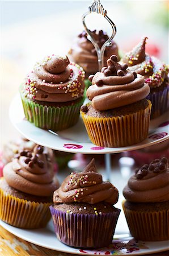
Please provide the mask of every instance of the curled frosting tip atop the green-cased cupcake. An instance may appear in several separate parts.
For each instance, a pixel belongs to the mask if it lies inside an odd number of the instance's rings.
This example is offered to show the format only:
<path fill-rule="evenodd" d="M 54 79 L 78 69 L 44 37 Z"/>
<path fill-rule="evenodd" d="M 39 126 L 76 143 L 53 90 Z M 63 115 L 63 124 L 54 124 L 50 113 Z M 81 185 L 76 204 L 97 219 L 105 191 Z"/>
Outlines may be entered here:
<path fill-rule="evenodd" d="M 47 64 L 44 65 L 44 68 L 52 74 L 59 74 L 65 71 L 67 65 L 70 63 L 69 59 L 60 57 L 60 56 L 52 56 L 50 60 L 47 61 Z"/>

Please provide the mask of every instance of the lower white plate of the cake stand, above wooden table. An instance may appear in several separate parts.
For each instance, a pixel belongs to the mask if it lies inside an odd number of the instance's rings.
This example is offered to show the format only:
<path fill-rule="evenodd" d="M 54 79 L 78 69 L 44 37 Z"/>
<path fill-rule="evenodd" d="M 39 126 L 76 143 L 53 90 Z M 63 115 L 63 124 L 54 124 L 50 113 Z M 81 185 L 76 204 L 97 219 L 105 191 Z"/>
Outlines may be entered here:
<path fill-rule="evenodd" d="M 49 222 L 47 228 L 35 230 L 15 228 L 14 226 L 6 224 L 2 220 L 0 220 L 0 225 L 15 236 L 18 236 L 28 242 L 32 242 L 35 245 L 77 255 L 144 255 L 169 250 L 169 241 L 136 242 L 133 240 L 133 243 L 130 246 L 126 246 L 126 243 L 133 238 L 128 235 L 117 236 L 116 234 L 114 236 L 113 243 L 109 247 L 104 247 L 103 249 L 98 250 L 80 250 L 64 245 L 64 243 L 57 240 L 54 234 L 52 221 Z M 124 243 L 122 247 L 119 246 L 120 243 Z"/>

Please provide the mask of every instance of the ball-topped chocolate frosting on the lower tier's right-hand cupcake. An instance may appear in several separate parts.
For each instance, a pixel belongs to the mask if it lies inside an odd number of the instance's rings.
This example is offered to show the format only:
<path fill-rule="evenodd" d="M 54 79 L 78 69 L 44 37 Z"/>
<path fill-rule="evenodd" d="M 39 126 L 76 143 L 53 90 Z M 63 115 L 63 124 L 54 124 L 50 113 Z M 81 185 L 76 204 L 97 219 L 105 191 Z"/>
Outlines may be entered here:
<path fill-rule="evenodd" d="M 126 200 L 134 203 L 158 203 L 169 200 L 167 158 L 155 159 L 136 169 L 123 190 Z"/>

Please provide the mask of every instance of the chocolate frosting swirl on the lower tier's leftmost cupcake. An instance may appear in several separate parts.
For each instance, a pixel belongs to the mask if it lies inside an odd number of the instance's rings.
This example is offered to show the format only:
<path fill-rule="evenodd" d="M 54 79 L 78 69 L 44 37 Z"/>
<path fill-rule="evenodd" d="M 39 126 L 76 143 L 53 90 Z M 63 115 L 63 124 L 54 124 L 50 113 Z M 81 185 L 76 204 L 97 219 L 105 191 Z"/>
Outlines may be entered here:
<path fill-rule="evenodd" d="M 53 163 L 45 147 L 23 150 L 3 168 L 7 183 L 18 191 L 35 196 L 51 196 L 57 188 Z"/>

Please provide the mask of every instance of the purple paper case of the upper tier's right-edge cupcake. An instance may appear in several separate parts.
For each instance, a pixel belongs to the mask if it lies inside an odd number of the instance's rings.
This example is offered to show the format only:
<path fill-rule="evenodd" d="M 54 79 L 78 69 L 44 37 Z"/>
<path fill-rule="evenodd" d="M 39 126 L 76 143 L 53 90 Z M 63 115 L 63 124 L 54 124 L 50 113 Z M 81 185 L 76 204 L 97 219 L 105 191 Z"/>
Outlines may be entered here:
<path fill-rule="evenodd" d="M 163 90 L 151 91 L 147 100 L 150 100 L 152 103 L 151 109 L 151 119 L 159 117 L 161 114 L 167 111 L 169 108 L 169 87 L 164 87 Z"/>

